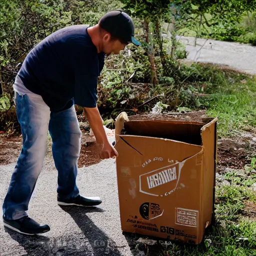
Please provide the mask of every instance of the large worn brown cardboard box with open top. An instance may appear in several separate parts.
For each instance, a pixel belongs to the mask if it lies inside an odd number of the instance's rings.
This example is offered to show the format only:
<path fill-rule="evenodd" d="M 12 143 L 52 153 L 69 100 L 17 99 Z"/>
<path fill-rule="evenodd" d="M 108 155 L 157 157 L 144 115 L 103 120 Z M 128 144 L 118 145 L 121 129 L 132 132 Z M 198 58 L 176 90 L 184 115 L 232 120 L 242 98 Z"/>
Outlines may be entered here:
<path fill-rule="evenodd" d="M 213 214 L 216 121 L 117 118 L 123 231 L 201 242 Z"/>

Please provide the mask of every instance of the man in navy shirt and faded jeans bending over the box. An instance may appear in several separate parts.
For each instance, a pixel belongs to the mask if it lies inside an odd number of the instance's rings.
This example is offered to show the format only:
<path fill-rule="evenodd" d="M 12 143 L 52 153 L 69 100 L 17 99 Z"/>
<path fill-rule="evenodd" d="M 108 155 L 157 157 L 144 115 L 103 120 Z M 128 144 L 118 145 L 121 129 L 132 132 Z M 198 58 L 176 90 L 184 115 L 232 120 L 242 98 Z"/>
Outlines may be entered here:
<path fill-rule="evenodd" d="M 122 10 L 114 10 L 94 26 L 73 25 L 58 30 L 28 53 L 13 84 L 23 146 L 2 205 L 4 226 L 24 234 L 50 230 L 25 212 L 42 168 L 48 130 L 58 171 L 57 203 L 101 203 L 99 197 L 81 196 L 76 186 L 81 131 L 74 104 L 84 107 L 100 158 L 117 156 L 96 106 L 97 77 L 104 54 L 118 54 L 130 42 L 140 45 L 133 35 L 132 19 Z"/>

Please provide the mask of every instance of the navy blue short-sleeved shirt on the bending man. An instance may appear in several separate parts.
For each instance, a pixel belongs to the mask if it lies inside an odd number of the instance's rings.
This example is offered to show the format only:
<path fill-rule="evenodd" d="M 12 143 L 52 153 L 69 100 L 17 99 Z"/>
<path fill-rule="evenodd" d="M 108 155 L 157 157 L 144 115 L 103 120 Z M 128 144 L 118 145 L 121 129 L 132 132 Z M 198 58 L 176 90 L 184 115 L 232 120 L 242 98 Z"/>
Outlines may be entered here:
<path fill-rule="evenodd" d="M 104 53 L 97 53 L 89 25 L 72 25 L 48 35 L 26 56 L 18 72 L 24 86 L 42 96 L 50 110 L 73 103 L 95 107 Z"/>

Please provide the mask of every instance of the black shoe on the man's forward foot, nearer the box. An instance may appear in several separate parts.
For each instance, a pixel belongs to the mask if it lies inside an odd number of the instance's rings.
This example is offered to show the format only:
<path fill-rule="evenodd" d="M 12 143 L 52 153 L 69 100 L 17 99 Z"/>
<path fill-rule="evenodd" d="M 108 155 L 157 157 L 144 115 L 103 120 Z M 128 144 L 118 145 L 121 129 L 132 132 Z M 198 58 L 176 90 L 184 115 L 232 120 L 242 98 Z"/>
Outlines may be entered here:
<path fill-rule="evenodd" d="M 101 203 L 101 199 L 98 196 L 95 197 L 84 197 L 81 195 L 76 196 L 71 200 L 57 199 L 58 205 L 77 205 L 77 206 L 95 206 Z"/>

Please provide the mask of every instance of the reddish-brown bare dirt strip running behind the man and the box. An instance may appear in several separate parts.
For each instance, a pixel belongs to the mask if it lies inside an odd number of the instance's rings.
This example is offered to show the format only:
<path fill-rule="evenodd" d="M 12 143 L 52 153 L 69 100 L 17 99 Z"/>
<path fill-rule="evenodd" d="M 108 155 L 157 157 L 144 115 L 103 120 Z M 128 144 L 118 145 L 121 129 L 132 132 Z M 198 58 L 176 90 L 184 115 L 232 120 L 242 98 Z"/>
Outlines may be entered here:
<path fill-rule="evenodd" d="M 79 118 L 78 118 L 79 119 Z M 207 117 L 204 111 L 189 113 L 171 113 L 161 115 L 134 115 L 129 116 L 130 120 L 143 119 L 168 119 L 168 120 L 191 120 L 205 122 Z M 78 167 L 89 166 L 100 161 L 96 143 L 93 137 L 89 136 L 89 126 L 84 120 L 79 119 L 82 131 L 81 151 L 78 158 Z M 250 164 L 250 158 L 256 154 L 256 134 L 240 133 L 236 137 L 218 139 L 218 164 L 217 172 L 224 171 L 227 167 L 242 169 L 244 165 Z M 8 164 L 16 161 L 22 148 L 22 136 L 8 137 L 0 133 L 0 164 Z"/>

